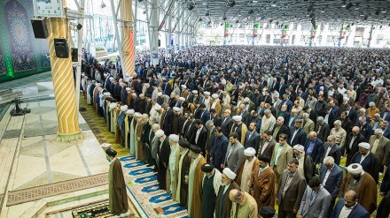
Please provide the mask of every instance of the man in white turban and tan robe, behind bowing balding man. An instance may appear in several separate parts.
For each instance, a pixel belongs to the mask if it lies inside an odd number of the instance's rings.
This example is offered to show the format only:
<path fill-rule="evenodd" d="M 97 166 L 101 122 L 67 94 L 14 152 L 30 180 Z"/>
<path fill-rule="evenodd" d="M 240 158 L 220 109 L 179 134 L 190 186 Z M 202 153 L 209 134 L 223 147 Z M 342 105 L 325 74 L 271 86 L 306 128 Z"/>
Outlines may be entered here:
<path fill-rule="evenodd" d="M 246 161 L 242 164 L 242 168 L 238 173 L 237 184 L 239 184 L 241 191 L 249 192 L 249 182 L 251 181 L 253 169 L 259 165 L 259 160 L 256 158 L 256 151 L 253 147 L 248 147 L 244 150 Z"/>

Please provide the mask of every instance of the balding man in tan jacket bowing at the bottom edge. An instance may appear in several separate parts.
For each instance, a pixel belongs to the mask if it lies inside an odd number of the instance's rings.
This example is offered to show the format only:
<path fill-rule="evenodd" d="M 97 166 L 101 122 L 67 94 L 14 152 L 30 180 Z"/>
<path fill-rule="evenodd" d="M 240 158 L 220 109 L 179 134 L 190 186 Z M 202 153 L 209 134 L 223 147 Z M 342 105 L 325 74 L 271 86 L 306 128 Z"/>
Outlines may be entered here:
<path fill-rule="evenodd" d="M 229 198 L 233 202 L 230 218 L 257 218 L 256 200 L 249 193 L 233 189 L 229 192 Z"/>

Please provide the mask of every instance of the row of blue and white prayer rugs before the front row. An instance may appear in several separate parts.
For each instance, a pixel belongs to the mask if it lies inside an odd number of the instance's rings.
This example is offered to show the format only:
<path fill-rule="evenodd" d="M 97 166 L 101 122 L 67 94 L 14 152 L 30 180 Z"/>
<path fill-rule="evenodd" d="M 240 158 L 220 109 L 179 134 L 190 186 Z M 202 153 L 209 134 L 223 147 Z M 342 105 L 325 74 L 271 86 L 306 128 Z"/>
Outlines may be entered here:
<path fill-rule="evenodd" d="M 180 207 L 171 199 L 170 194 L 160 190 L 157 175 L 152 168 L 136 161 L 133 155 L 121 157 L 120 161 L 129 191 L 148 217 L 188 217 L 186 208 Z M 156 214 L 156 207 L 161 207 L 163 214 Z"/>

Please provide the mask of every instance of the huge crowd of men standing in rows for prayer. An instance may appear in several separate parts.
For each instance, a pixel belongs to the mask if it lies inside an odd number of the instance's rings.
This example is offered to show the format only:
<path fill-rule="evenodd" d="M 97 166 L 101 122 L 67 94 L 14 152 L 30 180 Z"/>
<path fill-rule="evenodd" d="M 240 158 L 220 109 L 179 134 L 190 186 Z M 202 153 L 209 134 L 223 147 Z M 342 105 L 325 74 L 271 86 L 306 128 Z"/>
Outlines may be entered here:
<path fill-rule="evenodd" d="M 386 49 L 164 54 L 136 54 L 133 74 L 85 60 L 82 90 L 190 218 L 388 217 Z"/>

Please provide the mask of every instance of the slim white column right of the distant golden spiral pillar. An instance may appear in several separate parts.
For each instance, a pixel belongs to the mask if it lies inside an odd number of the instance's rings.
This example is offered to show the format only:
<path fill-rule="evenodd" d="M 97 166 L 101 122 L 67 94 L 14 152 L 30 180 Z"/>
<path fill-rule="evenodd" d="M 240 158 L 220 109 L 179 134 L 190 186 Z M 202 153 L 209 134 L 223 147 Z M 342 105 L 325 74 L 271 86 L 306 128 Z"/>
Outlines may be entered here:
<path fill-rule="evenodd" d="M 155 66 L 159 64 L 159 7 L 157 6 L 157 0 L 151 0 L 152 11 L 151 11 L 151 20 L 150 26 L 151 29 L 149 32 L 151 33 L 151 62 Z"/>

